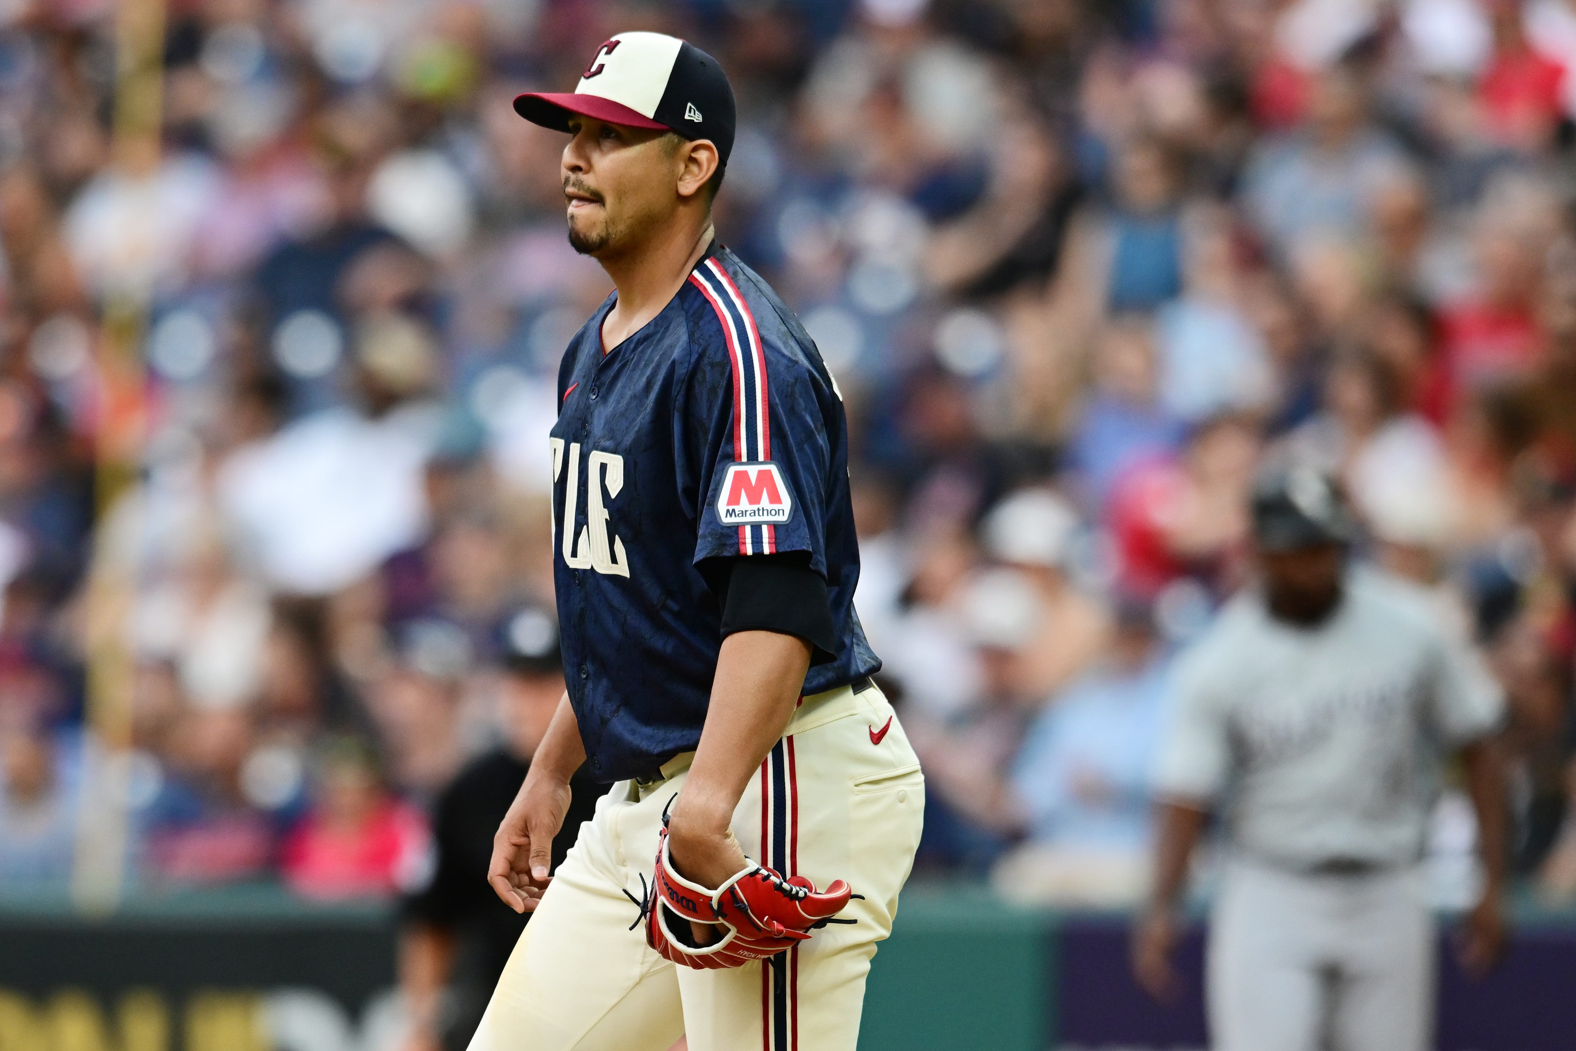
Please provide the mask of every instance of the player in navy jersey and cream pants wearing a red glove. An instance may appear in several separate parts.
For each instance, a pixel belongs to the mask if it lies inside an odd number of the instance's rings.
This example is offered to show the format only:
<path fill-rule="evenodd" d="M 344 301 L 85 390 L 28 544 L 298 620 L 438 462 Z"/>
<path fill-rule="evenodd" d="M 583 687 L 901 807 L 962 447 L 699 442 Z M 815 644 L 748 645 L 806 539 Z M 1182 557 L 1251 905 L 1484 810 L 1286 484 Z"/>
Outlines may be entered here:
<path fill-rule="evenodd" d="M 495 838 L 534 917 L 471 1048 L 851 1051 L 924 780 L 853 610 L 837 384 L 712 233 L 733 91 L 623 33 L 515 110 L 569 134 L 569 241 L 616 292 L 558 373 L 569 689 Z M 582 764 L 613 788 L 548 882 Z"/>

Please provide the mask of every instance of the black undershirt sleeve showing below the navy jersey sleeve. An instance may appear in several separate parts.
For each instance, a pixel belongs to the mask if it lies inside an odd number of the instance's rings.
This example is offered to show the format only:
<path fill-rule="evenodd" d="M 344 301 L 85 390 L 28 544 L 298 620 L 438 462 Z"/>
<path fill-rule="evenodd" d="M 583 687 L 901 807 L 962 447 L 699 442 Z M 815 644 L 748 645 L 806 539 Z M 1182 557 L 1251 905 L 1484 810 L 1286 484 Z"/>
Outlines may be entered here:
<path fill-rule="evenodd" d="M 706 580 L 722 605 L 722 635 L 777 632 L 810 643 L 810 663 L 837 660 L 826 578 L 807 551 L 708 559 Z"/>

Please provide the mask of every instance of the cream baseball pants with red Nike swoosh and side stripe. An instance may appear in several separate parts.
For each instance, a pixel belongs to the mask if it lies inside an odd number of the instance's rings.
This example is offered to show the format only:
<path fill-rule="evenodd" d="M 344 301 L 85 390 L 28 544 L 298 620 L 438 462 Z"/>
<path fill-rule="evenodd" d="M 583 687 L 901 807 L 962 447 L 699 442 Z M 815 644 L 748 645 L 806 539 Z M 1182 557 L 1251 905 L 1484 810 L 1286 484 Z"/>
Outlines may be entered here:
<path fill-rule="evenodd" d="M 919 846 L 925 782 L 876 687 L 807 696 L 739 800 L 750 859 L 818 887 L 846 879 L 838 919 L 731 971 L 678 967 L 646 947 L 638 908 L 662 811 L 690 755 L 657 782 L 619 782 L 582 826 L 509 956 L 470 1051 L 854 1051 L 865 975 L 892 931 Z M 641 882 L 645 878 L 645 884 Z"/>

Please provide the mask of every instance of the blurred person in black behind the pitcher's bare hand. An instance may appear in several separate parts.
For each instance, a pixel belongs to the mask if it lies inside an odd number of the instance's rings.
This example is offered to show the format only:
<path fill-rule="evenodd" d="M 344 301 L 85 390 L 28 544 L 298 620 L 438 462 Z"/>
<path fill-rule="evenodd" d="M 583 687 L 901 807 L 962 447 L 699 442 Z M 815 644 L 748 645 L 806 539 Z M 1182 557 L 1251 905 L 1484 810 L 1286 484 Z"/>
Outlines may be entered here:
<path fill-rule="evenodd" d="M 525 608 L 500 630 L 504 742 L 460 771 L 432 811 L 433 870 L 403 904 L 400 990 L 410 1007 L 405 1051 L 463 1051 L 487 1008 L 531 914 L 519 915 L 487 886 L 493 834 L 525 780 L 547 723 L 564 693 L 558 626 Z M 553 840 L 553 870 L 574 846 L 607 791 L 585 771 L 571 780 L 574 800 Z"/>

